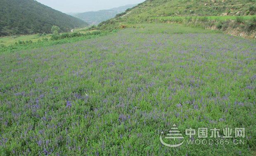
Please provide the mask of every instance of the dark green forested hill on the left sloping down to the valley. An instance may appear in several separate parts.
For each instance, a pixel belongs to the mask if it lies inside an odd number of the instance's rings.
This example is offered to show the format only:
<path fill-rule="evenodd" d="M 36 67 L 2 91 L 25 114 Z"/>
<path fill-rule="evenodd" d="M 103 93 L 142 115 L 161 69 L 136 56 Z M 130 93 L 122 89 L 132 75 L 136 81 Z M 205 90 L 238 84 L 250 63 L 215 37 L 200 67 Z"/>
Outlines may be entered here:
<path fill-rule="evenodd" d="M 50 33 L 53 25 L 67 32 L 88 24 L 35 0 L 0 0 L 0 36 Z"/>

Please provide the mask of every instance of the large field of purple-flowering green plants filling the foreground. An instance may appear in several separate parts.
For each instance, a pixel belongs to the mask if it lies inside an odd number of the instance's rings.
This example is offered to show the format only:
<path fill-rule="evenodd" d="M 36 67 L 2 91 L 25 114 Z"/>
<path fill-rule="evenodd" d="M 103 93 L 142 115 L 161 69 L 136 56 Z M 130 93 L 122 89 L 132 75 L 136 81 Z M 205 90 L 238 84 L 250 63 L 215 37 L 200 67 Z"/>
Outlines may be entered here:
<path fill-rule="evenodd" d="M 0 155 L 255 154 L 255 41 L 141 24 L 0 60 Z M 244 145 L 166 147 L 173 124 L 244 127 Z"/>

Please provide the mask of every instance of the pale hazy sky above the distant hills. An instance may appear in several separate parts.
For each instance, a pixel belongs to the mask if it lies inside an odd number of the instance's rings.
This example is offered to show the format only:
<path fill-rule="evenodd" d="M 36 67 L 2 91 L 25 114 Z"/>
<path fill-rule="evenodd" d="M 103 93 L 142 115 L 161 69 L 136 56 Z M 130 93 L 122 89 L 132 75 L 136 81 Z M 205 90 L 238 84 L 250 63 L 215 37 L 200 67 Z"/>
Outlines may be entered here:
<path fill-rule="evenodd" d="M 145 0 L 36 0 L 48 7 L 69 12 L 97 11 L 123 5 L 137 4 Z"/>

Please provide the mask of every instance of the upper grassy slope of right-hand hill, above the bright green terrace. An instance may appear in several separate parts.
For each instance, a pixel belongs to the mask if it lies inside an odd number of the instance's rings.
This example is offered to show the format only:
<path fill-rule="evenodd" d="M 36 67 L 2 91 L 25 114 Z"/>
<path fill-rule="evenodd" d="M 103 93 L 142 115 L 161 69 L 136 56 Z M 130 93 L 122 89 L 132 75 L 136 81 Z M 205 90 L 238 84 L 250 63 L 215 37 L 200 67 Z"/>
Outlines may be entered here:
<path fill-rule="evenodd" d="M 101 23 L 143 23 L 163 16 L 242 16 L 255 15 L 255 0 L 146 0 L 117 18 Z"/>

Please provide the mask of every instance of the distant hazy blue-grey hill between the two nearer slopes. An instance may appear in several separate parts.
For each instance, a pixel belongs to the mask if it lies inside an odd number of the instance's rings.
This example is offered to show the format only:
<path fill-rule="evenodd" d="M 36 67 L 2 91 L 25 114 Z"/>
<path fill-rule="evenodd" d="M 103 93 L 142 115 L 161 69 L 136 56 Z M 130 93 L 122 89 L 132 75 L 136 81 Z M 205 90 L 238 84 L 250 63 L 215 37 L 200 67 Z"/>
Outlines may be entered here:
<path fill-rule="evenodd" d="M 120 14 L 128 8 L 132 8 L 136 5 L 125 5 L 122 7 L 117 7 L 108 10 L 100 10 L 100 11 L 88 11 L 80 14 L 71 14 L 74 17 L 80 18 L 83 21 L 86 21 L 90 25 L 97 25 L 102 21 L 106 21 L 110 18 L 114 18 L 116 14 Z"/>

